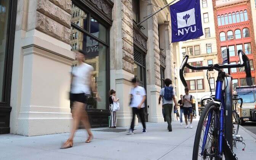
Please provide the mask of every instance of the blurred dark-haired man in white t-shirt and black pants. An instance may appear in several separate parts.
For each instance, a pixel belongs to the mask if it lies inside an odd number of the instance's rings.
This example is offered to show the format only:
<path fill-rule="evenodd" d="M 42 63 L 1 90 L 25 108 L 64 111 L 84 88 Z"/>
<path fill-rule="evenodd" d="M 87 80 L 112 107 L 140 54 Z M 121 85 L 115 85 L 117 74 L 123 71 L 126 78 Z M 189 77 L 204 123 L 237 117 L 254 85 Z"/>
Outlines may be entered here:
<path fill-rule="evenodd" d="M 130 91 L 130 107 L 132 107 L 133 117 L 131 121 L 131 128 L 129 130 L 129 134 L 134 134 L 134 119 L 135 115 L 138 114 L 139 118 L 141 118 L 141 123 L 143 126 L 142 133 L 147 133 L 145 116 L 144 116 L 144 102 L 146 101 L 146 90 L 142 86 L 138 86 L 137 78 L 133 78 L 131 80 L 133 88 Z"/>

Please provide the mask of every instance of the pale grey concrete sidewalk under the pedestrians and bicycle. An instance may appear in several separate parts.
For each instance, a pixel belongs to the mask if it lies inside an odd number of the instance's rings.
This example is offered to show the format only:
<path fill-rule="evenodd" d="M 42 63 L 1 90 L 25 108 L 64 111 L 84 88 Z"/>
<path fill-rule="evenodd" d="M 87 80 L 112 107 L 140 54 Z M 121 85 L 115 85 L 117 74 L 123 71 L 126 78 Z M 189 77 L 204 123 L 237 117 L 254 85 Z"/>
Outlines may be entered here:
<path fill-rule="evenodd" d="M 94 139 L 85 143 L 87 135 L 78 130 L 74 146 L 59 149 L 69 133 L 45 136 L 25 137 L 13 134 L 0 135 L 0 160 L 189 160 L 192 159 L 194 128 L 184 128 L 179 122 L 173 122 L 173 132 L 167 131 L 167 123 L 147 123 L 147 133 L 141 133 L 141 125 L 136 126 L 133 135 L 126 132 L 96 131 L 105 128 L 93 128 Z M 126 128 L 120 128 L 126 129 Z M 240 160 L 252 160 L 256 155 L 256 137 L 240 128 L 246 148 L 237 144 L 234 149 Z"/>

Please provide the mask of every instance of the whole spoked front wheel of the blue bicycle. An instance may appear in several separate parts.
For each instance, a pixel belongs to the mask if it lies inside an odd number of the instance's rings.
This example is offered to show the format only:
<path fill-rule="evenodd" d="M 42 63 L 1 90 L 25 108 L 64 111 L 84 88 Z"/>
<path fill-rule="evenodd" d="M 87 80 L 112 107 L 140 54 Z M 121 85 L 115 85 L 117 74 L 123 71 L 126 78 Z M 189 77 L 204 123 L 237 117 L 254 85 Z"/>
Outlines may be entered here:
<path fill-rule="evenodd" d="M 214 102 L 206 104 L 195 134 L 193 160 L 220 160 L 218 158 L 219 120 L 219 107 Z"/>

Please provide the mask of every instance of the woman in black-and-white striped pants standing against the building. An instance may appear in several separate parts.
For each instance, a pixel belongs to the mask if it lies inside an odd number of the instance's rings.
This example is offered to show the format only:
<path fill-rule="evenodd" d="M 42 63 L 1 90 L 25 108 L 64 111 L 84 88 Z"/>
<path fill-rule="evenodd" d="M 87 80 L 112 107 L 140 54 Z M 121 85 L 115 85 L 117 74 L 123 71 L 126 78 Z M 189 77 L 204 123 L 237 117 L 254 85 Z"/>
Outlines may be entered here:
<path fill-rule="evenodd" d="M 116 91 L 110 90 L 109 91 L 110 97 L 109 97 L 109 112 L 110 112 L 110 128 L 117 128 L 117 112 L 114 110 L 114 102 L 119 101 L 118 98 L 116 98 Z"/>

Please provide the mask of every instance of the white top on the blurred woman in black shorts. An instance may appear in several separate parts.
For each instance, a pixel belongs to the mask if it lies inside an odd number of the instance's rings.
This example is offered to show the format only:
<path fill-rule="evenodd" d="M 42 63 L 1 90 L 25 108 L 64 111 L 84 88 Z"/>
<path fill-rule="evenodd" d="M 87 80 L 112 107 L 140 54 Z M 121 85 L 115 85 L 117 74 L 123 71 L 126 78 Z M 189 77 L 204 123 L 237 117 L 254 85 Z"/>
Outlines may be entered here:
<path fill-rule="evenodd" d="M 73 81 L 70 92 L 91 94 L 89 78 L 91 78 L 92 71 L 93 67 L 86 63 L 73 67 Z"/>

